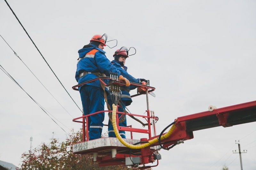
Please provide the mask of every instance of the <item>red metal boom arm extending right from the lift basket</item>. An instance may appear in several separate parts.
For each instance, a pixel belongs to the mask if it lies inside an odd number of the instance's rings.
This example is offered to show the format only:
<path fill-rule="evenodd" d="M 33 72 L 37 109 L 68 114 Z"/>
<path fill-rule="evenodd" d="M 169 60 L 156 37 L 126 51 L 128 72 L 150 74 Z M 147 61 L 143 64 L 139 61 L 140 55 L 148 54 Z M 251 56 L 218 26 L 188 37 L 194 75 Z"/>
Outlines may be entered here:
<path fill-rule="evenodd" d="M 193 131 L 196 130 L 218 126 L 230 127 L 237 124 L 255 122 L 256 101 L 181 116 L 175 121 L 176 129 L 173 131 L 172 135 L 167 139 L 161 140 L 164 147 L 168 147 L 179 140 L 192 139 Z M 151 137 L 149 140 L 153 138 L 155 137 Z"/>

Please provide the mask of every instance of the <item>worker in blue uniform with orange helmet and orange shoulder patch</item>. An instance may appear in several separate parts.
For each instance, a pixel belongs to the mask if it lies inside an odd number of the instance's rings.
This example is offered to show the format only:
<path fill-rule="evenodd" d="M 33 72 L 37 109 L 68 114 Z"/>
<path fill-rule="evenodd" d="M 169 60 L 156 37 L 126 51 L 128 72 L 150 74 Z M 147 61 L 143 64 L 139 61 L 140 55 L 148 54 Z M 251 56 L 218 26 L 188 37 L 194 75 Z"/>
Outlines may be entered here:
<path fill-rule="evenodd" d="M 106 34 L 94 35 L 88 45 L 78 50 L 79 58 L 76 69 L 78 84 L 99 76 L 109 76 L 109 72 L 115 72 L 118 74 L 118 78 L 125 82 L 126 86 L 130 85 L 129 80 L 124 78 L 106 57 L 105 51 L 103 51 L 106 41 Z M 78 90 L 84 115 L 104 110 L 104 91 L 100 85 L 100 80 L 80 86 Z M 102 112 L 89 116 L 88 122 L 86 122 L 89 126 L 89 140 L 101 138 L 104 115 L 104 112 Z"/>

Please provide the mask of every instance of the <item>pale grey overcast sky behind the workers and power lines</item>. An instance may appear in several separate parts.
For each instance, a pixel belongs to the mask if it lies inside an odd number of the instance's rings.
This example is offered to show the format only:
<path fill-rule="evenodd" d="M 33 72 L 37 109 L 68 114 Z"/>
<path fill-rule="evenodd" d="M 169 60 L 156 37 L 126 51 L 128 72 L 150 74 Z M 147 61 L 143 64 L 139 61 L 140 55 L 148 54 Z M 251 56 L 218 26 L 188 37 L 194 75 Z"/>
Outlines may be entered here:
<path fill-rule="evenodd" d="M 149 108 L 159 117 L 158 134 L 175 118 L 256 100 L 256 1 L 14 1 L 8 0 L 29 35 L 78 106 L 77 51 L 92 35 L 107 33 L 118 46 L 137 50 L 126 61 L 135 78 L 150 80 L 156 98 Z M 73 118 L 80 110 L 69 98 L 4 1 L 0 1 L 0 34 Z M 113 60 L 116 48 L 104 50 Z M 80 124 L 52 98 L 0 38 L 0 64 L 61 127 L 78 130 Z M 49 143 L 64 140 L 60 129 L 16 84 L 0 71 L 0 160 L 20 166 L 20 157 Z M 133 92 L 134 93 L 134 92 Z M 146 97 L 128 107 L 144 113 Z M 105 116 L 105 123 L 108 117 Z M 128 125 L 132 123 L 128 119 Z M 107 128 L 103 129 L 106 132 Z M 52 133 L 54 132 L 54 134 Z M 138 139 L 140 136 L 136 136 Z M 226 164 L 239 170 L 235 140 L 240 140 L 243 167 L 256 167 L 256 122 L 194 132 L 194 139 L 161 151 L 154 169 L 220 170 Z"/>

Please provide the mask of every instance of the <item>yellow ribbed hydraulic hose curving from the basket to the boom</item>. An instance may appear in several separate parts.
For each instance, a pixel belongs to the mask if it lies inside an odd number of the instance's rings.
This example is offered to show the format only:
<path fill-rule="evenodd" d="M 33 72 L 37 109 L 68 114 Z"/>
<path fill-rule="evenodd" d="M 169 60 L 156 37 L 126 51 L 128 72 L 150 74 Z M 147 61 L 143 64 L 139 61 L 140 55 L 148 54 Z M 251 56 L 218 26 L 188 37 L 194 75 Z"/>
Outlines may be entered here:
<path fill-rule="evenodd" d="M 124 141 L 124 139 L 120 136 L 119 134 L 119 131 L 117 129 L 117 125 L 116 125 L 116 105 L 113 104 L 112 105 L 112 125 L 113 125 L 113 129 L 114 129 L 114 132 L 116 134 L 116 138 L 126 147 L 130 148 L 130 149 L 142 149 L 142 148 L 145 148 L 145 147 L 148 147 L 150 146 L 151 144 L 154 144 L 156 142 L 158 142 L 158 137 L 152 139 L 152 140 L 149 140 L 148 143 L 145 143 L 145 144 L 140 144 L 140 145 L 132 145 L 132 144 L 128 144 L 127 142 Z M 164 134 L 160 140 L 162 139 L 165 139 L 167 137 L 169 137 L 173 130 L 175 129 L 175 124 L 172 125 L 172 127 L 169 129 L 169 131 Z"/>

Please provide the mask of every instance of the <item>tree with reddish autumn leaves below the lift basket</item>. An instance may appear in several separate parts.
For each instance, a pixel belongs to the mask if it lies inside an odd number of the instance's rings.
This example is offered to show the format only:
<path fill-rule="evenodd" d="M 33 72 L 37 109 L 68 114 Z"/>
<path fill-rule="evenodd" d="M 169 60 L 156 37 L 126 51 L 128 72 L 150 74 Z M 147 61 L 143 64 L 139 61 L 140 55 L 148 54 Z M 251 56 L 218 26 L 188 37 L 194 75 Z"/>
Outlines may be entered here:
<path fill-rule="evenodd" d="M 82 141 L 81 131 L 82 130 L 79 132 L 72 131 L 70 136 L 62 142 L 58 141 L 56 138 L 51 138 L 51 142 L 49 144 L 43 143 L 31 151 L 31 153 L 23 153 L 21 156 L 21 169 L 130 169 L 122 165 L 99 167 L 98 163 L 92 162 L 91 155 L 73 154 L 73 144 Z"/>

